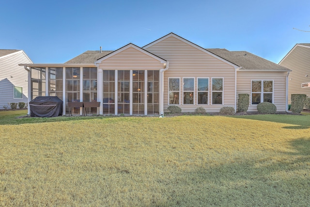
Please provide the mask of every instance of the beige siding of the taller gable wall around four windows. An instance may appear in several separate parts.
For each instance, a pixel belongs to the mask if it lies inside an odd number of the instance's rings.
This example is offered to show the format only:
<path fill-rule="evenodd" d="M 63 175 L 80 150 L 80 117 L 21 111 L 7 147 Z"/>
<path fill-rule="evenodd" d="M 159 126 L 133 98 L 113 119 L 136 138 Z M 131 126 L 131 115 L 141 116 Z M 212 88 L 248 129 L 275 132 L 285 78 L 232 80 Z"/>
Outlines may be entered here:
<path fill-rule="evenodd" d="M 218 112 L 223 106 L 235 104 L 235 69 L 232 65 L 213 57 L 173 36 L 146 48 L 147 51 L 169 61 L 169 69 L 164 72 L 164 111 L 168 108 L 168 78 L 180 78 L 180 105 L 183 112 L 193 112 L 203 107 L 207 112 Z M 194 105 L 183 105 L 183 78 L 195 78 Z M 197 104 L 197 78 L 209 78 L 209 105 Z M 212 105 L 212 78 L 223 78 L 223 105 Z"/>

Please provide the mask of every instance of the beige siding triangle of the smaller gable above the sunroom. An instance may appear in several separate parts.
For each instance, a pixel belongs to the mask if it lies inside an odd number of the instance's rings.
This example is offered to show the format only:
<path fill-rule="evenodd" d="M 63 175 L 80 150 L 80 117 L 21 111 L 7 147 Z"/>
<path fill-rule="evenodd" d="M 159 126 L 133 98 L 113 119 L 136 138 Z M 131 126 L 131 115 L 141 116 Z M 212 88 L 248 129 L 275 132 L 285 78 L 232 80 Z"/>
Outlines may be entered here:
<path fill-rule="evenodd" d="M 163 69 L 163 64 L 135 48 L 127 48 L 102 61 L 98 68 L 103 70 L 158 70 Z"/>

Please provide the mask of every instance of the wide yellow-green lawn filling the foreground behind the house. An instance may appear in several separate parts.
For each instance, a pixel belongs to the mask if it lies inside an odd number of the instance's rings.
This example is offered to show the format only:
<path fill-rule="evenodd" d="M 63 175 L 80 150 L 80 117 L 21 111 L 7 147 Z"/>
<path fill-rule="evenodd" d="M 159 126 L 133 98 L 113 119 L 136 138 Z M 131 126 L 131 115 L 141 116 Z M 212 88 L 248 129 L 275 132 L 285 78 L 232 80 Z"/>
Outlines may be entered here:
<path fill-rule="evenodd" d="M 0 206 L 310 206 L 310 116 L 21 118 Z"/>

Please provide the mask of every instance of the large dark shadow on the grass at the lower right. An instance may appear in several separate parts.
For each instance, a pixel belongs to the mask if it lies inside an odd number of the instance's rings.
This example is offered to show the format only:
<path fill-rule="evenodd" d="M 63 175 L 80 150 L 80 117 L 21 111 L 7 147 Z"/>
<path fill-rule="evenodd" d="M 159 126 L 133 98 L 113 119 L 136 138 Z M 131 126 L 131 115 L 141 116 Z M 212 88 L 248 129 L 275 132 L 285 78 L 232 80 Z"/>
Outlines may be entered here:
<path fill-rule="evenodd" d="M 240 158 L 215 167 L 205 163 L 171 180 L 183 191 L 170 191 L 169 197 L 176 198 L 175 206 L 309 206 L 310 139 L 290 145 L 294 152 L 277 157 Z"/>

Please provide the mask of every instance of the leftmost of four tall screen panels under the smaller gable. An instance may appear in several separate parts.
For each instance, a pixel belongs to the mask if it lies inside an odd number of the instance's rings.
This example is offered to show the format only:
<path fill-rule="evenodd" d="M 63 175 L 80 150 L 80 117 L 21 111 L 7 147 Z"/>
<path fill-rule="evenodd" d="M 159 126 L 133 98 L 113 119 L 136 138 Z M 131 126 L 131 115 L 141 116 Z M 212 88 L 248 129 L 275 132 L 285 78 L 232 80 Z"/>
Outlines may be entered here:
<path fill-rule="evenodd" d="M 103 70 L 103 114 L 115 113 L 115 70 Z"/>

